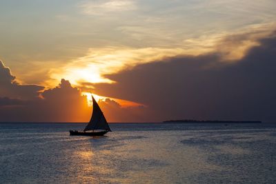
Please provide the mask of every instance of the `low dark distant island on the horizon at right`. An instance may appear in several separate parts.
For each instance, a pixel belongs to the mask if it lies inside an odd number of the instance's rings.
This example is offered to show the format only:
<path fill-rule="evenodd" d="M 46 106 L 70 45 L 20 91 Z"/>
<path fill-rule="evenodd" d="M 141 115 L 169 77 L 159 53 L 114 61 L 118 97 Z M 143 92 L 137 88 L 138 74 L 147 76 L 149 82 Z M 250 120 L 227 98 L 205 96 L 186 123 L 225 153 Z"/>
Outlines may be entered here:
<path fill-rule="evenodd" d="M 177 119 L 177 120 L 163 121 L 163 123 L 262 123 L 262 121 L 219 121 L 219 120 Z"/>

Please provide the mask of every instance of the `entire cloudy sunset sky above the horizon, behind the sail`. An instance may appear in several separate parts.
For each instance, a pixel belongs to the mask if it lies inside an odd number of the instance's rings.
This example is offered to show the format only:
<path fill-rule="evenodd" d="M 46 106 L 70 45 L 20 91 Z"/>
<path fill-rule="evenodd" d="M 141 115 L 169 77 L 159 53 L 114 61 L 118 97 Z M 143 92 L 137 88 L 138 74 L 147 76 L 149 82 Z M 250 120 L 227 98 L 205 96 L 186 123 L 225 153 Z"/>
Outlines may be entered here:
<path fill-rule="evenodd" d="M 276 121 L 275 7 L 0 0 L 0 121 Z"/>

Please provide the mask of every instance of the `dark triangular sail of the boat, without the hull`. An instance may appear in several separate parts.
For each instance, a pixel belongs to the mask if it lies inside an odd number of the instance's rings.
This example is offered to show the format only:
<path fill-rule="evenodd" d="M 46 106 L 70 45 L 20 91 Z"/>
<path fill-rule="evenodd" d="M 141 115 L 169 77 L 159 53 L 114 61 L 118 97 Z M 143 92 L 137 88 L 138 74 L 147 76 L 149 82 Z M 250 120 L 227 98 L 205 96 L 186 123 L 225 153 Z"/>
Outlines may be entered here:
<path fill-rule="evenodd" d="M 108 130 L 111 132 L 108 122 L 106 121 L 106 118 L 103 116 L 103 112 L 101 112 L 101 109 L 99 108 L 99 105 L 93 96 L 92 96 L 92 101 L 93 101 L 92 116 L 88 125 L 83 131 Z"/>

